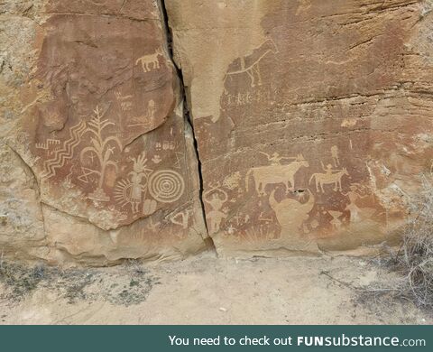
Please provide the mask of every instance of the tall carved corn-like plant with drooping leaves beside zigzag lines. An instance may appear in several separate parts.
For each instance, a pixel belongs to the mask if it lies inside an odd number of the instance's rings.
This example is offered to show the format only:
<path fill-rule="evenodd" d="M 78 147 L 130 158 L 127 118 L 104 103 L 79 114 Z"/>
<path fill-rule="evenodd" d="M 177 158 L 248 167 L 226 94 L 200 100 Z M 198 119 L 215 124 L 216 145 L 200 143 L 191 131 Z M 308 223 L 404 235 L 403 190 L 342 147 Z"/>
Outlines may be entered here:
<path fill-rule="evenodd" d="M 110 198 L 106 195 L 103 190 L 104 178 L 106 175 L 106 169 L 109 166 L 115 168 L 117 171 L 117 164 L 111 159 L 115 154 L 115 149 L 118 148 L 119 152 L 122 150 L 122 144 L 116 136 L 104 137 L 104 130 L 115 123 L 103 119 L 105 113 L 101 111 L 99 107 L 94 110 L 94 116 L 88 122 L 88 127 L 85 134 L 91 134 L 90 142 L 92 145 L 87 146 L 79 153 L 79 161 L 82 165 L 89 163 L 90 168 L 82 167 L 83 174 L 79 176 L 79 180 L 88 181 L 88 176 L 97 175 L 97 189 L 92 193 L 88 194 L 88 199 L 95 201 L 109 201 Z M 96 158 L 95 158 L 96 157 Z M 98 169 L 92 169 L 95 167 L 94 161 L 97 160 Z M 89 162 L 90 161 L 90 162 Z"/>

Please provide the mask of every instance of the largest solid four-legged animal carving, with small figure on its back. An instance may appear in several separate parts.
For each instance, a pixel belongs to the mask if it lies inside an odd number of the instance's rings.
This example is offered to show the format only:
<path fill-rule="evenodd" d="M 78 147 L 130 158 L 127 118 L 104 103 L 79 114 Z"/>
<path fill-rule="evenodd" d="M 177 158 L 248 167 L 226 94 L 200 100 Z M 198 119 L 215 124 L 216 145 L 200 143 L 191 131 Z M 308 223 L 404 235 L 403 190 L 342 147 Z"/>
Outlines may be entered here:
<path fill-rule="evenodd" d="M 273 162 L 277 162 L 281 157 L 280 155 L 274 155 Z M 281 165 L 279 163 L 272 164 L 271 166 L 259 166 L 250 169 L 246 173 L 245 185 L 246 191 L 249 190 L 249 179 L 253 176 L 255 182 L 255 190 L 258 194 L 264 195 L 264 189 L 268 184 L 283 183 L 287 186 L 287 191 L 295 189 L 295 174 L 301 167 L 309 167 L 302 154 L 299 154 L 296 158 L 284 158 L 294 159 L 294 162 L 290 162 L 287 165 Z M 290 187 L 291 186 L 291 187 Z"/>

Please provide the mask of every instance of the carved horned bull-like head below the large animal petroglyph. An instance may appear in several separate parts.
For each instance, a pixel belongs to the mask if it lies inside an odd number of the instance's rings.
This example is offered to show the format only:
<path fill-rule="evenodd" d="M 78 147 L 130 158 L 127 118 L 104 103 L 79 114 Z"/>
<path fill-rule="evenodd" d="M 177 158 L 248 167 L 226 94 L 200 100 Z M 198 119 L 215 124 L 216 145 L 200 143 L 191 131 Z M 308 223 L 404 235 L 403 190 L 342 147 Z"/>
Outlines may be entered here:
<path fill-rule="evenodd" d="M 275 190 L 269 196 L 269 204 L 275 212 L 281 231 L 300 230 L 306 232 L 304 222 L 309 219 L 309 212 L 313 209 L 315 198 L 309 192 L 309 200 L 301 203 L 297 199 L 282 199 L 280 202 L 275 199 Z"/>

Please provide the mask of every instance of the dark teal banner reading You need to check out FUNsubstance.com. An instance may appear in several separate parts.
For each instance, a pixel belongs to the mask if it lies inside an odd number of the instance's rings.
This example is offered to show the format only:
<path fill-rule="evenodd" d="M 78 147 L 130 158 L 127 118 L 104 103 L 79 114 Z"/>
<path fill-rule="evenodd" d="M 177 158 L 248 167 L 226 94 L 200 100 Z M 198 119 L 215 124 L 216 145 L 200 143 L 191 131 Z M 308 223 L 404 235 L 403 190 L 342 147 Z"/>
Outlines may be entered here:
<path fill-rule="evenodd" d="M 431 326 L 2 327 L 4 351 L 431 350 Z"/>

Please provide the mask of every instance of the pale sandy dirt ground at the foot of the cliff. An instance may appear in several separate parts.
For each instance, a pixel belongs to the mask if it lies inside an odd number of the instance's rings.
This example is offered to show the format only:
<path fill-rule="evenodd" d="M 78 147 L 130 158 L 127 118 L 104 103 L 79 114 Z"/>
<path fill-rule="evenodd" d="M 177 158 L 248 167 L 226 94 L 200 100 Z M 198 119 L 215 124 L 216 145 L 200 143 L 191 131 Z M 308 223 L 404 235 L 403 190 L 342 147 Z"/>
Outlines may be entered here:
<path fill-rule="evenodd" d="M 207 253 L 176 263 L 7 270 L 0 281 L 1 324 L 433 322 L 410 302 L 360 294 L 356 288 L 391 274 L 356 258 L 240 261 Z"/>

